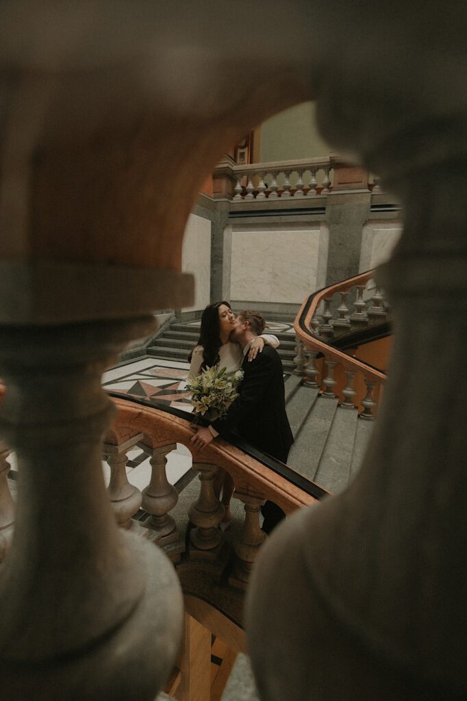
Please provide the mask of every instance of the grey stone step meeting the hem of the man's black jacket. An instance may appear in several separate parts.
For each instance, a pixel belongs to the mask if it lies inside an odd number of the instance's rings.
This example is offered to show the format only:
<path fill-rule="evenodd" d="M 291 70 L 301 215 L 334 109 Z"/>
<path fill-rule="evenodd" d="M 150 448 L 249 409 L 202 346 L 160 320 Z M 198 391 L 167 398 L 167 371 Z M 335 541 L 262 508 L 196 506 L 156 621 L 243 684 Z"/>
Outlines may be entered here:
<path fill-rule="evenodd" d="M 287 465 L 314 482 L 316 470 L 330 432 L 337 398 L 330 399 L 318 395 L 290 449 Z"/>

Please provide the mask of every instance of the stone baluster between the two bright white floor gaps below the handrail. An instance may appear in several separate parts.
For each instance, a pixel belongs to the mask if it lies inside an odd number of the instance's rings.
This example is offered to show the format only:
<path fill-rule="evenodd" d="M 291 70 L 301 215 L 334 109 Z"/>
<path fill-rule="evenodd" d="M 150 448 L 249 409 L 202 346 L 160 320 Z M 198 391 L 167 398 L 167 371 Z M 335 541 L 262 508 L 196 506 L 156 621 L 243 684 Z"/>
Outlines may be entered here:
<path fill-rule="evenodd" d="M 144 526 L 156 532 L 157 545 L 168 545 L 180 539 L 175 525 L 175 519 L 170 516 L 178 501 L 178 492 L 175 486 L 169 484 L 167 479 L 167 456 L 177 448 L 176 443 L 165 445 L 161 448 L 150 448 L 140 443 L 144 452 L 151 456 L 151 481 L 142 492 L 142 508 L 151 514 L 144 522 Z"/>

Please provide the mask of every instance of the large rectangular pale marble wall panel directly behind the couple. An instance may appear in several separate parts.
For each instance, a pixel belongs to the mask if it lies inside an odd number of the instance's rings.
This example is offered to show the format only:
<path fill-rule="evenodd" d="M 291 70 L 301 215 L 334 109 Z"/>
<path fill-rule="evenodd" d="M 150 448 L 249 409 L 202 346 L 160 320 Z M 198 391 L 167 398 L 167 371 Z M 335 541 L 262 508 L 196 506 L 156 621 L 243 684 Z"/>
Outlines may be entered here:
<path fill-rule="evenodd" d="M 325 275 L 327 238 L 320 224 L 232 226 L 230 298 L 301 304 Z"/>

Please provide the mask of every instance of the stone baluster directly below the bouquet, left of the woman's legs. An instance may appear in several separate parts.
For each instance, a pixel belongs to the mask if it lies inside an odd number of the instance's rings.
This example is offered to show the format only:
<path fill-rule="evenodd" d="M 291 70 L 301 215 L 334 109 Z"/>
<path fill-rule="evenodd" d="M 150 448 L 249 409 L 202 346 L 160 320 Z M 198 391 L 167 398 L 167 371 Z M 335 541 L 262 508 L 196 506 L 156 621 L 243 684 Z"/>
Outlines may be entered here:
<path fill-rule="evenodd" d="M 219 524 L 224 516 L 224 506 L 214 493 L 217 467 L 209 463 L 194 463 L 192 469 L 199 470 L 201 489 L 188 512 L 191 523 L 196 526 L 190 531 L 190 541 L 197 552 L 191 548 L 190 557 L 215 559 L 222 545 L 223 534 Z"/>

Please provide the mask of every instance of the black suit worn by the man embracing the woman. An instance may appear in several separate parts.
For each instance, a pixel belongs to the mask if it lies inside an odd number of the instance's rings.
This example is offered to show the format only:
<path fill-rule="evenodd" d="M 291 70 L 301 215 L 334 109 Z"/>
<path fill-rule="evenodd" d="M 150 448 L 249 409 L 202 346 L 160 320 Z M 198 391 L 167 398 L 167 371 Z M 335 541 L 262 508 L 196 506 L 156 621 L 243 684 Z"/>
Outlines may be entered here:
<path fill-rule="evenodd" d="M 231 404 L 224 418 L 212 421 L 221 435 L 233 431 L 248 443 L 281 462 L 287 461 L 294 442 L 285 413 L 285 394 L 282 362 L 271 346 L 264 346 L 255 360 L 243 359 L 245 373 L 240 396 Z M 263 530 L 269 533 L 280 519 L 282 510 L 270 501 L 263 509 Z"/>

